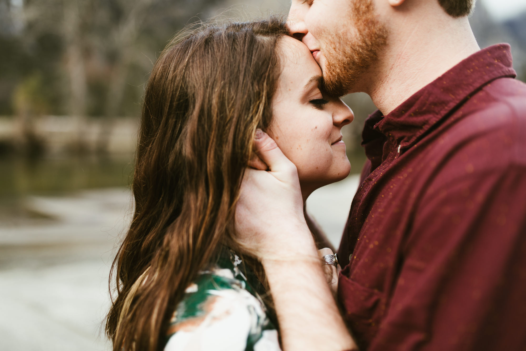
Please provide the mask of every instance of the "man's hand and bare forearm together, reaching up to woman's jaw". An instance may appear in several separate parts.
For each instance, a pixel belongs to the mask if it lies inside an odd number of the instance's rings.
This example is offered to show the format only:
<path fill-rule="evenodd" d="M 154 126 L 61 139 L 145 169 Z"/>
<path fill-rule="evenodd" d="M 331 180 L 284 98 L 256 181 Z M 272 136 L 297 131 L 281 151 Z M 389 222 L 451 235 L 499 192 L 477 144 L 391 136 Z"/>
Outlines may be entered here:
<path fill-rule="evenodd" d="M 251 163 L 256 169 L 247 170 L 236 208 L 236 231 L 265 268 L 283 349 L 354 350 L 356 344 L 327 285 L 305 221 L 296 167 L 261 131 L 255 147 L 268 171 L 259 162 Z"/>

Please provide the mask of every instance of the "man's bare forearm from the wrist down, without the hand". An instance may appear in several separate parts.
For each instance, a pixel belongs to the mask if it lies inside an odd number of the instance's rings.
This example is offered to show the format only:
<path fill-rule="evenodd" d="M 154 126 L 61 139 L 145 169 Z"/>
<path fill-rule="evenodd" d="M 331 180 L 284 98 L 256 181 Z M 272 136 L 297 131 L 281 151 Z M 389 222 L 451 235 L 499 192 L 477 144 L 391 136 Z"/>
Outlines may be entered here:
<path fill-rule="evenodd" d="M 357 349 L 331 295 L 315 248 L 294 255 L 293 260 L 263 261 L 284 350 Z"/>

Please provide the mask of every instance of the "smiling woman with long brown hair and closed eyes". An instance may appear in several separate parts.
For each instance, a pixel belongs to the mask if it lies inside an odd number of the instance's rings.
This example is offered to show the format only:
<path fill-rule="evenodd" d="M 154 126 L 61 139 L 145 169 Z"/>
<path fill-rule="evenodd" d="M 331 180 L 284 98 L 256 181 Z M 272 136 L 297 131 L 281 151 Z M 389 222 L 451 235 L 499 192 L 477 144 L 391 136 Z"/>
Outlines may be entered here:
<path fill-rule="evenodd" d="M 258 128 L 296 164 L 304 201 L 348 175 L 340 130 L 352 112 L 322 91 L 310 51 L 278 18 L 204 26 L 165 48 L 145 91 L 135 214 L 113 264 L 114 350 L 279 349 L 234 209 Z"/>

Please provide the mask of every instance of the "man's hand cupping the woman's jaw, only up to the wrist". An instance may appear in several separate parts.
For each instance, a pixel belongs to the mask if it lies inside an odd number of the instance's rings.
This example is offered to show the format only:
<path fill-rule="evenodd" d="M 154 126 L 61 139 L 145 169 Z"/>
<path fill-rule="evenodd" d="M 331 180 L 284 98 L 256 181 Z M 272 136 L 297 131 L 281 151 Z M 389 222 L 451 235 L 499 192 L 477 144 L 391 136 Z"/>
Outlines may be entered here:
<path fill-rule="evenodd" d="M 261 261 L 317 258 L 303 211 L 303 199 L 294 163 L 265 132 L 255 139 L 258 160 L 247 169 L 236 208 L 240 242 Z M 268 165 L 268 171 L 261 163 Z"/>

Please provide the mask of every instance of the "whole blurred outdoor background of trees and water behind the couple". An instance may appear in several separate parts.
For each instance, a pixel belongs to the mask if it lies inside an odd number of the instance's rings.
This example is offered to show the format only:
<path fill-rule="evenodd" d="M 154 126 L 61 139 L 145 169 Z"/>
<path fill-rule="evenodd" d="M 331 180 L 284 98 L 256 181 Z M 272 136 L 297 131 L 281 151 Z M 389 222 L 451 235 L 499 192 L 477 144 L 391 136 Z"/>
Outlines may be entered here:
<path fill-rule="evenodd" d="M 185 24 L 287 13 L 287 0 L 0 0 L 0 350 L 102 350 L 115 246 L 133 213 L 141 96 Z M 232 7 L 233 6 L 233 7 Z M 526 79 L 526 2 L 479 0 L 479 45 L 508 42 Z M 351 176 L 309 198 L 338 244 L 365 161 L 366 94 L 344 98 Z"/>

